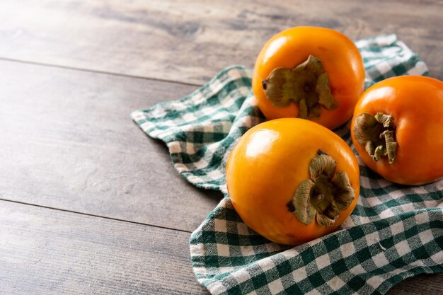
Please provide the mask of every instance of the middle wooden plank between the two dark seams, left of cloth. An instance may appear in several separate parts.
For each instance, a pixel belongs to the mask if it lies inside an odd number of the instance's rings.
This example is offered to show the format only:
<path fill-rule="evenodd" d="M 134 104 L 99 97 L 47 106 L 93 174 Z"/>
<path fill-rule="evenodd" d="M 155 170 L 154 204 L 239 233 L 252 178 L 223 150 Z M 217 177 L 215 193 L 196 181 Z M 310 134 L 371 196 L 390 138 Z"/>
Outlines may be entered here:
<path fill-rule="evenodd" d="M 193 231 L 199 190 L 130 112 L 195 86 L 0 61 L 0 199 Z"/>

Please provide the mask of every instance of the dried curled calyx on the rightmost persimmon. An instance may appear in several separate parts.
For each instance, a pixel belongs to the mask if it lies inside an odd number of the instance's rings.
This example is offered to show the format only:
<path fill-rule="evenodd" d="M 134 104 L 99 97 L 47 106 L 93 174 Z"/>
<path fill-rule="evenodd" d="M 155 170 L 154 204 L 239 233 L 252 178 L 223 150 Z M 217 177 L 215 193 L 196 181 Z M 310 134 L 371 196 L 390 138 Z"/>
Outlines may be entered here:
<path fill-rule="evenodd" d="M 354 136 L 364 146 L 374 161 L 388 156 L 390 164 L 396 159 L 396 125 L 392 115 L 377 112 L 376 115 L 364 112 L 355 117 Z"/>

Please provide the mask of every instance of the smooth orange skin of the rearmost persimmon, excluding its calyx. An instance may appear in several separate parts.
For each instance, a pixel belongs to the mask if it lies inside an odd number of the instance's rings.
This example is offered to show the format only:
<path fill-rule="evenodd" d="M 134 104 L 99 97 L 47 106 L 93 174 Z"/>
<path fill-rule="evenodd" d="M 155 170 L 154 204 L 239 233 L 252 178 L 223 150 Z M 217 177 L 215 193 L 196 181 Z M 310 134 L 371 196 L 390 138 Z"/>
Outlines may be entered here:
<path fill-rule="evenodd" d="M 338 103 L 335 110 L 322 107 L 320 117 L 311 120 L 334 129 L 352 117 L 355 103 L 364 89 L 362 56 L 355 44 L 342 33 L 328 28 L 296 27 L 272 37 L 255 62 L 253 93 L 258 108 L 268 120 L 297 117 L 299 106 L 296 103 L 277 108 L 267 100 L 262 81 L 273 69 L 292 69 L 304 62 L 309 54 L 321 59 L 323 69 L 328 73 L 331 93 Z"/>

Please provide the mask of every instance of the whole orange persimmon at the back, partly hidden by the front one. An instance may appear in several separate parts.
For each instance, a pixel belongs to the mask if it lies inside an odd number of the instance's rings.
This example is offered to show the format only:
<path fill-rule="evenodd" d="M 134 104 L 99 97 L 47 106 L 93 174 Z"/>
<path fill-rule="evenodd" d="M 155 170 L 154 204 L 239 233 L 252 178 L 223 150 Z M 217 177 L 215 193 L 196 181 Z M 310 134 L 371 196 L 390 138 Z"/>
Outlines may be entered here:
<path fill-rule="evenodd" d="M 352 117 L 364 88 L 364 66 L 357 47 L 342 33 L 296 27 L 267 41 L 252 83 L 268 120 L 301 117 L 334 129 Z"/>

